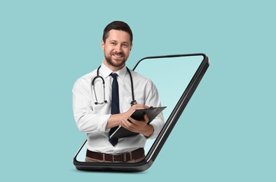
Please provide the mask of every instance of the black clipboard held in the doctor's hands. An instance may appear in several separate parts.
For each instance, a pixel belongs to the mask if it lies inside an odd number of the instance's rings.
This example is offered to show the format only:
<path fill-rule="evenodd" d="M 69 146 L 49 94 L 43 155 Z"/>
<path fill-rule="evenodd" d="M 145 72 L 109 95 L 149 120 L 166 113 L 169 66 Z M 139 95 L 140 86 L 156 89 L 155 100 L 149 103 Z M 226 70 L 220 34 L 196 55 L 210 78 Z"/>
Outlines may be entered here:
<path fill-rule="evenodd" d="M 158 116 L 159 113 L 161 113 L 167 106 L 163 107 L 150 107 L 149 109 L 137 109 L 135 110 L 132 115 L 130 116 L 134 120 L 143 120 L 144 119 L 144 113 L 149 117 L 149 123 L 151 123 L 156 116 Z M 148 123 L 148 125 L 149 125 Z M 130 130 L 125 129 L 122 126 L 119 126 L 118 129 L 111 134 L 109 137 L 111 138 L 124 138 L 124 137 L 131 137 L 134 135 L 137 135 L 139 133 L 130 132 Z"/>

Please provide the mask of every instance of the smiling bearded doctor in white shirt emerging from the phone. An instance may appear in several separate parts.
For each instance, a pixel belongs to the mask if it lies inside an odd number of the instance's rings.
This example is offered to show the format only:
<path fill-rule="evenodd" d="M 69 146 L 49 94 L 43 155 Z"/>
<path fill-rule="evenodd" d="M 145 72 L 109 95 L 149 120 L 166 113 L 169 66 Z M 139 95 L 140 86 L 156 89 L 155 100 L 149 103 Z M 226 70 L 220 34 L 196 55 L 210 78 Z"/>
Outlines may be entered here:
<path fill-rule="evenodd" d="M 125 66 L 132 50 L 132 30 L 125 22 L 107 25 L 101 45 L 102 65 L 78 78 L 72 90 L 76 125 L 87 133 L 85 162 L 139 162 L 145 157 L 146 139 L 158 136 L 164 119 L 161 113 L 147 125 L 146 115 L 143 121 L 130 116 L 136 109 L 160 106 L 158 91 L 151 80 Z M 119 125 L 139 134 L 111 141 Z"/>

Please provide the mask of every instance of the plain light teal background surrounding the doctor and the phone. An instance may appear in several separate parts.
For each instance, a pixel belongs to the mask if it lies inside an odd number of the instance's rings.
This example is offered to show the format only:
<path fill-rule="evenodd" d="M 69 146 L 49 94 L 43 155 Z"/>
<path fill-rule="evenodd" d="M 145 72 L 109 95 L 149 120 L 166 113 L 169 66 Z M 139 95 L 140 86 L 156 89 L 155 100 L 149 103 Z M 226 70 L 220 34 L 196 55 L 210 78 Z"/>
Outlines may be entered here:
<path fill-rule="evenodd" d="M 1 1 L 1 181 L 276 181 L 272 2 Z M 79 172 L 71 87 L 102 62 L 113 20 L 132 27 L 129 67 L 193 52 L 212 64 L 149 170 Z"/>

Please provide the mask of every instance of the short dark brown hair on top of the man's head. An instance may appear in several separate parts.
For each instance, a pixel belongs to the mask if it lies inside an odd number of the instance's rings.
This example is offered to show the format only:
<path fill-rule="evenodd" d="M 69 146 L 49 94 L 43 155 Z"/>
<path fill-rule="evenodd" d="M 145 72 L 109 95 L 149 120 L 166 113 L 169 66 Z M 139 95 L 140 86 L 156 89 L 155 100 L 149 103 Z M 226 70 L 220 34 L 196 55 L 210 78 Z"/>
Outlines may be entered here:
<path fill-rule="evenodd" d="M 121 21 L 114 21 L 109 23 L 109 25 L 106 25 L 106 27 L 104 28 L 104 34 L 102 35 L 102 40 L 104 42 L 106 41 L 106 38 L 109 36 L 109 31 L 111 31 L 111 29 L 126 31 L 128 34 L 130 34 L 130 43 L 132 43 L 133 35 L 130 26 L 128 26 L 125 22 Z"/>

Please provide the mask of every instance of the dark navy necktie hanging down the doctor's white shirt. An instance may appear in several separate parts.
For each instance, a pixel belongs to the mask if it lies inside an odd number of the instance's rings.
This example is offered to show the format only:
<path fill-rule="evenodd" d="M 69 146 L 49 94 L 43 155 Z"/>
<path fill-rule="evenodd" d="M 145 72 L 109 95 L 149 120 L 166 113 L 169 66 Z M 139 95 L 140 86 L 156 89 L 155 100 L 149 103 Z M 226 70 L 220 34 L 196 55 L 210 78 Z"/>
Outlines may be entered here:
<path fill-rule="evenodd" d="M 117 73 L 111 73 L 113 78 L 112 82 L 112 97 L 111 97 L 111 114 L 120 113 L 120 105 L 119 105 L 119 87 L 117 81 Z M 112 127 L 109 131 L 109 137 L 113 132 L 117 130 L 118 126 Z M 115 146 L 118 143 L 118 138 L 109 139 L 109 142 Z"/>

